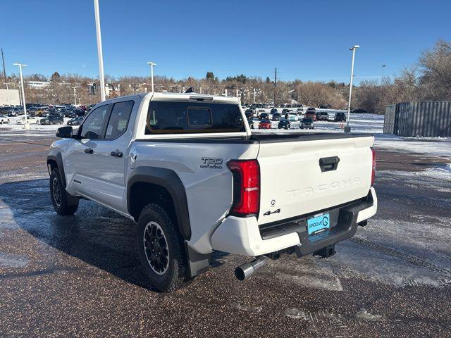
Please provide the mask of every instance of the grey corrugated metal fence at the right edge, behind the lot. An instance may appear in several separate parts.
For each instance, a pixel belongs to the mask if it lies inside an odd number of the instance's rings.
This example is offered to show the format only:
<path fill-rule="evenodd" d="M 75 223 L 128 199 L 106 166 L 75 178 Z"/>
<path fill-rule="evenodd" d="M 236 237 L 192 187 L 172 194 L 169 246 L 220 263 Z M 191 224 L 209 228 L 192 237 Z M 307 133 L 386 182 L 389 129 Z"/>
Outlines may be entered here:
<path fill-rule="evenodd" d="M 451 137 L 451 102 L 402 102 L 386 106 L 383 132 L 406 137 Z"/>

